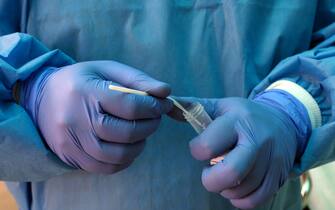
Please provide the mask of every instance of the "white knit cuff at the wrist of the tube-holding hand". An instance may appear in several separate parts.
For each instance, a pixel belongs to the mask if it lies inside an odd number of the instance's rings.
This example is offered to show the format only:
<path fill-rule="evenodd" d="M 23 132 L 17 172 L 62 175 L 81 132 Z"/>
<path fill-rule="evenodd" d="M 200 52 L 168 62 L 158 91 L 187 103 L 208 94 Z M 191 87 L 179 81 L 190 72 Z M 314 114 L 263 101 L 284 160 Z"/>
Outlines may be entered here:
<path fill-rule="evenodd" d="M 278 80 L 272 83 L 266 90 L 273 89 L 288 92 L 304 105 L 311 121 L 312 129 L 321 126 L 322 117 L 319 105 L 313 96 L 311 96 L 311 94 L 309 94 L 303 87 L 289 80 Z"/>

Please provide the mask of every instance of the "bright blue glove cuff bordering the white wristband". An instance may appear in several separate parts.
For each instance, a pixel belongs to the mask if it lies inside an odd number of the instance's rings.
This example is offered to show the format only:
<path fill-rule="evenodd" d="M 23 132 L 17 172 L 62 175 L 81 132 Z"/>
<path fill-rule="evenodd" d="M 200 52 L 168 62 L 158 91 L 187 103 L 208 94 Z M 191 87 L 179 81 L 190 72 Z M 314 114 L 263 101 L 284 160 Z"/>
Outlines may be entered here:
<path fill-rule="evenodd" d="M 312 124 L 304 104 L 282 89 L 268 89 L 256 95 L 253 100 L 276 108 L 291 120 L 297 140 L 296 160 L 300 159 L 312 131 Z"/>

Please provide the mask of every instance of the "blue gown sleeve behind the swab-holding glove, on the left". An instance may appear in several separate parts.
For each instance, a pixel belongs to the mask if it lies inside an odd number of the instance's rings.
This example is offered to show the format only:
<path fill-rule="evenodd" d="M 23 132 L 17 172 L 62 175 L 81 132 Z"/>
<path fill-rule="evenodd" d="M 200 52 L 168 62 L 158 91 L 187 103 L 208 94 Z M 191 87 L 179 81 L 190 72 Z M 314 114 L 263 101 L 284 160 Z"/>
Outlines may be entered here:
<path fill-rule="evenodd" d="M 3 27 L 8 28 L 6 24 L 0 26 Z M 71 63 L 69 57 L 58 50 L 49 51 L 29 35 L 15 33 L 0 37 L 1 180 L 37 181 L 71 170 L 46 148 L 31 118 L 12 96 L 14 84 L 33 72 L 44 66 Z"/>

